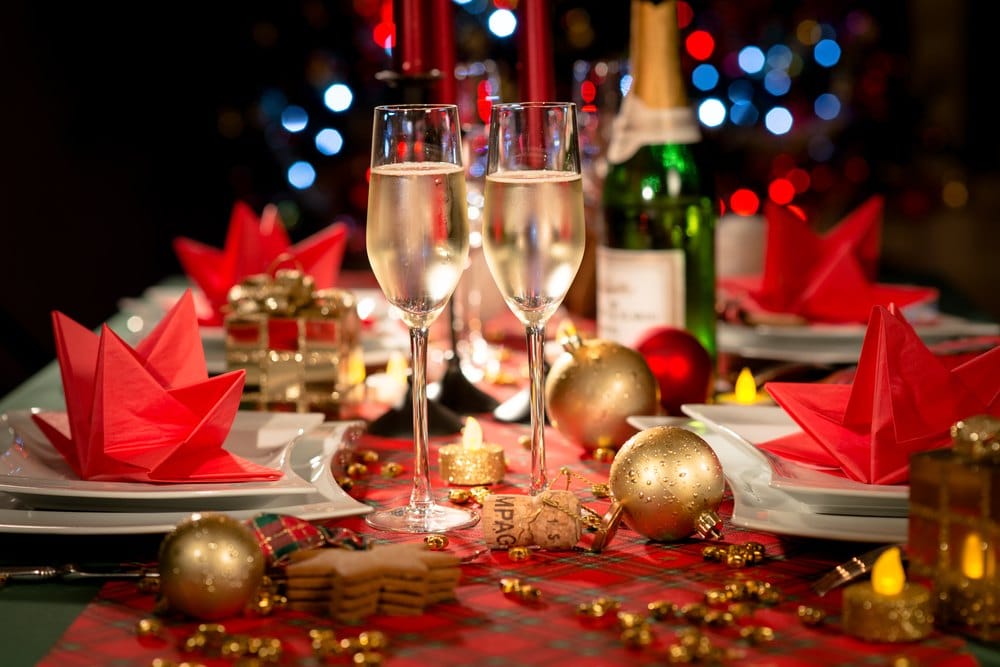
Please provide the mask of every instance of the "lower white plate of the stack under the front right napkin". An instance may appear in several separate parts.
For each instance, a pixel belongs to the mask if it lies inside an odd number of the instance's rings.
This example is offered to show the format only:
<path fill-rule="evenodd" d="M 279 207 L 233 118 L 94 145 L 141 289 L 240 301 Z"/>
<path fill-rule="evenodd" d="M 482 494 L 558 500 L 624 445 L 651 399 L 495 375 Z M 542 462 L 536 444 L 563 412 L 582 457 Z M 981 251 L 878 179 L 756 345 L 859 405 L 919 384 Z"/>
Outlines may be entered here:
<path fill-rule="evenodd" d="M 633 416 L 628 421 L 640 430 L 665 424 L 678 425 L 676 417 Z M 700 420 L 689 422 L 683 428 L 704 438 L 719 457 L 733 494 L 731 521 L 734 525 L 778 535 L 828 540 L 880 543 L 906 540 L 908 520 L 905 516 L 817 512 L 809 503 L 771 486 L 770 469 L 759 453 Z"/>

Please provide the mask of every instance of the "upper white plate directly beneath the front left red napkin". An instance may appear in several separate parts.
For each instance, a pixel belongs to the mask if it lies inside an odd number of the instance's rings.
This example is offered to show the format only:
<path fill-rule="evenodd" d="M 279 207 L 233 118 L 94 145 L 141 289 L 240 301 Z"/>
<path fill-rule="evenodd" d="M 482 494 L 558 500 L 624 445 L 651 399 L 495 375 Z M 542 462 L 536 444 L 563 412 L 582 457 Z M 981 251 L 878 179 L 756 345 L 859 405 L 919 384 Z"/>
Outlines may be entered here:
<path fill-rule="evenodd" d="M 37 410 L 35 410 L 37 411 Z M 32 410 L 0 415 L 5 449 L 0 454 L 0 492 L 37 509 L 134 511 L 191 508 L 237 509 L 272 496 L 313 493 L 292 471 L 296 439 L 323 422 L 321 413 L 240 410 L 223 447 L 254 463 L 280 470 L 275 481 L 152 484 L 80 479 L 31 418 Z"/>

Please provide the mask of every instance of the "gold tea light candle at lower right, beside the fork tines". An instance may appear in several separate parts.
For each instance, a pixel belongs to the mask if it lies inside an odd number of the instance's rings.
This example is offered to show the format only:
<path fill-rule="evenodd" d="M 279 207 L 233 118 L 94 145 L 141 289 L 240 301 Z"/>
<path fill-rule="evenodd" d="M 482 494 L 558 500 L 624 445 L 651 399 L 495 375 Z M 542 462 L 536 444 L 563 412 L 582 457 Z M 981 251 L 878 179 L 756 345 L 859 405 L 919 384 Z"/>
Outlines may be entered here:
<path fill-rule="evenodd" d="M 926 637 L 934 624 L 926 586 L 906 581 L 899 548 L 887 549 L 872 566 L 871 581 L 844 589 L 844 631 L 859 639 L 908 642 Z"/>

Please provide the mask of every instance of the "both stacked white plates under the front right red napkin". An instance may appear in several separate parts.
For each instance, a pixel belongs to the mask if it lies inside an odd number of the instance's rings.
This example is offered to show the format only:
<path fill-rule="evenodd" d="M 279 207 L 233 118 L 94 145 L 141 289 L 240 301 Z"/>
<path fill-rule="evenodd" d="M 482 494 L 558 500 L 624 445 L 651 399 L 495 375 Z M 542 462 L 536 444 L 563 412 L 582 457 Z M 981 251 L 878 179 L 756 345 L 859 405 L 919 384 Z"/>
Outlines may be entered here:
<path fill-rule="evenodd" d="M 756 444 L 799 432 L 780 407 L 684 405 L 690 420 L 634 416 L 638 429 L 681 425 L 701 435 L 733 493 L 735 525 L 772 533 L 858 542 L 904 542 L 909 487 L 863 484 L 790 461 Z"/>

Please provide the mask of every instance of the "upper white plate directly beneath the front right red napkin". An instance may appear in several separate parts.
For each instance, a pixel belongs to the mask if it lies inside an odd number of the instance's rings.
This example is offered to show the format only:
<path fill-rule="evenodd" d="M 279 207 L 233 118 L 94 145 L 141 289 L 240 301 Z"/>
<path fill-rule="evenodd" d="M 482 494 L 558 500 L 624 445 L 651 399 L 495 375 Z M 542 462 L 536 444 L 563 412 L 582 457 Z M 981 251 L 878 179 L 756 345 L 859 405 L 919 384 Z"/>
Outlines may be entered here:
<path fill-rule="evenodd" d="M 681 406 L 684 414 L 729 436 L 770 469 L 769 484 L 827 514 L 907 516 L 910 487 L 865 484 L 771 454 L 756 445 L 801 429 L 784 408 L 769 405 Z"/>

